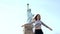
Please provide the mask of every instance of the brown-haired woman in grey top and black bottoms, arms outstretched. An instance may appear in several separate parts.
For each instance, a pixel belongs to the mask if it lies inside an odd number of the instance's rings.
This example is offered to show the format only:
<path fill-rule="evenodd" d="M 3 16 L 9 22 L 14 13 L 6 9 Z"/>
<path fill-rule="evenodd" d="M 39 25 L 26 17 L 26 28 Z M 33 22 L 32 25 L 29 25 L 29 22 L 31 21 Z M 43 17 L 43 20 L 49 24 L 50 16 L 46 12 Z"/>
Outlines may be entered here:
<path fill-rule="evenodd" d="M 44 25 L 45 27 L 47 27 L 48 29 L 50 29 L 52 31 L 52 29 L 50 27 L 48 27 L 46 24 L 44 24 L 41 21 L 41 16 L 39 14 L 37 14 L 34 18 L 34 20 L 32 21 L 32 23 L 35 23 L 35 34 L 43 34 L 43 31 L 41 29 L 41 25 Z"/>

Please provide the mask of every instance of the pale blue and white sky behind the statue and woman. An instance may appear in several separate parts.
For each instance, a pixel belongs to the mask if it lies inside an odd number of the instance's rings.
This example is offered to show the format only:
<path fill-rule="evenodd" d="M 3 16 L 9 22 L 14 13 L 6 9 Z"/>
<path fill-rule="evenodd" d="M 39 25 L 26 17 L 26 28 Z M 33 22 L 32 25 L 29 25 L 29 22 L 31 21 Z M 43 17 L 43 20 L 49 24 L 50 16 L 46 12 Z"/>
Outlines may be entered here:
<path fill-rule="evenodd" d="M 21 26 L 27 21 L 27 3 L 53 29 L 42 26 L 44 34 L 60 34 L 60 0 L 0 0 L 0 34 L 24 34 Z"/>

